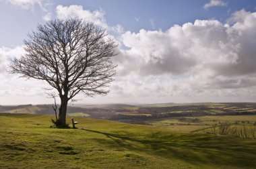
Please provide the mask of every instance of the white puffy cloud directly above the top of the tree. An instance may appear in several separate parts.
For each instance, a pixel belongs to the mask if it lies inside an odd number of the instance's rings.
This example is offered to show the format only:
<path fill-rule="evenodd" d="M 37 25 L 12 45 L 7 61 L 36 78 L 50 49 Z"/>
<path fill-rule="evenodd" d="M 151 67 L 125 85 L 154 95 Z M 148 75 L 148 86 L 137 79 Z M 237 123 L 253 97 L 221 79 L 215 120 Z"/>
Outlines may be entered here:
<path fill-rule="evenodd" d="M 56 7 L 56 13 L 58 19 L 67 19 L 69 17 L 78 17 L 80 19 L 85 19 L 86 21 L 93 22 L 96 25 L 107 28 L 106 19 L 104 17 L 105 13 L 102 9 L 96 11 L 84 10 L 82 5 L 70 5 L 64 7 L 63 5 L 58 5 Z"/>

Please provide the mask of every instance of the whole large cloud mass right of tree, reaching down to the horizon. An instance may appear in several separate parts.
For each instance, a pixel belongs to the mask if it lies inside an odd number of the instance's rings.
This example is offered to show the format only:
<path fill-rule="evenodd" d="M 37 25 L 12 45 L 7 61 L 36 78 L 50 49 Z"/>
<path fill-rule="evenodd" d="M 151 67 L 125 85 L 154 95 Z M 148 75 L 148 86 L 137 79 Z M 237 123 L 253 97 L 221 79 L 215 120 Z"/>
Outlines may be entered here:
<path fill-rule="evenodd" d="M 164 32 L 125 32 L 125 48 L 114 60 L 119 64 L 116 91 L 123 97 L 162 101 L 255 101 L 256 13 L 241 10 L 231 19 L 195 20 Z M 111 95 L 117 96 L 114 91 Z"/>

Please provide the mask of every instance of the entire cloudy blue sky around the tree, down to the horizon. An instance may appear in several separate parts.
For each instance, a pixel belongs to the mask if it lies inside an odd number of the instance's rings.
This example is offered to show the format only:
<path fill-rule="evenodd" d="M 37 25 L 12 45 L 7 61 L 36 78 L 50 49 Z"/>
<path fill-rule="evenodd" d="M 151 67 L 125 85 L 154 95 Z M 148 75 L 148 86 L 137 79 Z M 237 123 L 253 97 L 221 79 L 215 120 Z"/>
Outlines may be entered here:
<path fill-rule="evenodd" d="M 256 1 L 0 0 L 0 105 L 51 103 L 36 80 L 7 74 L 9 58 L 49 19 L 80 17 L 119 42 L 106 97 L 79 103 L 256 101 Z"/>

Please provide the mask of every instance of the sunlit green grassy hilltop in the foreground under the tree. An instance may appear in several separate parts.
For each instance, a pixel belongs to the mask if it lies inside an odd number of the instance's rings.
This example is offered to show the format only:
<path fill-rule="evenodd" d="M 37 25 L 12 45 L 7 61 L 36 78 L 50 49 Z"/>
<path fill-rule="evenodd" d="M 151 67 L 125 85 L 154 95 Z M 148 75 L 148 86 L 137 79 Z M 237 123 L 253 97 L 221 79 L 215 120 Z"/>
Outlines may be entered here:
<path fill-rule="evenodd" d="M 51 118 L 0 114 L 1 168 L 256 167 L 255 140 L 83 117 L 83 129 L 54 129 Z"/>

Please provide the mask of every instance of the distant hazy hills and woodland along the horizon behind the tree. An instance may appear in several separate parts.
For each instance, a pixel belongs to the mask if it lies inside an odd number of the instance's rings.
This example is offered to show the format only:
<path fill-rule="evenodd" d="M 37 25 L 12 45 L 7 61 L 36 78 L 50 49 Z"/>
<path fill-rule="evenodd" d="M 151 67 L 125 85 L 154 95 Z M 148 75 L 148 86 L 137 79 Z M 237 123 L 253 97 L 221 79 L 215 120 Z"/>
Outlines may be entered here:
<path fill-rule="evenodd" d="M 0 113 L 55 115 L 53 105 L 0 105 Z M 254 115 L 256 103 L 98 104 L 67 107 L 67 115 L 141 123 L 148 119 L 199 115 Z"/>

